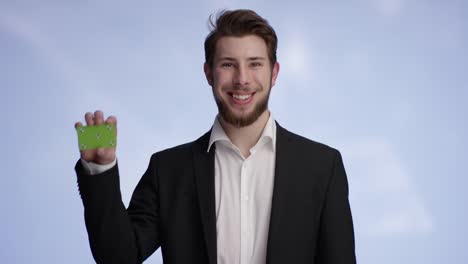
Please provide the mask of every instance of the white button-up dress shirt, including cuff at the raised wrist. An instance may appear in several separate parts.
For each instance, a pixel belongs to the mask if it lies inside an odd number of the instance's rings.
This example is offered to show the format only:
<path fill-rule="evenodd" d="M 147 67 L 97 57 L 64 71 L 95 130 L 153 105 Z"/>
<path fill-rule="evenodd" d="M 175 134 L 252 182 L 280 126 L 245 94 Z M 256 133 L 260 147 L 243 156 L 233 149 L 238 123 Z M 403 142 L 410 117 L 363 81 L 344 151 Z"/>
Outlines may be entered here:
<path fill-rule="evenodd" d="M 215 151 L 215 200 L 218 264 L 264 264 L 275 170 L 276 123 L 270 117 L 260 139 L 244 158 L 216 116 L 207 152 Z M 112 168 L 86 162 L 90 174 Z"/>

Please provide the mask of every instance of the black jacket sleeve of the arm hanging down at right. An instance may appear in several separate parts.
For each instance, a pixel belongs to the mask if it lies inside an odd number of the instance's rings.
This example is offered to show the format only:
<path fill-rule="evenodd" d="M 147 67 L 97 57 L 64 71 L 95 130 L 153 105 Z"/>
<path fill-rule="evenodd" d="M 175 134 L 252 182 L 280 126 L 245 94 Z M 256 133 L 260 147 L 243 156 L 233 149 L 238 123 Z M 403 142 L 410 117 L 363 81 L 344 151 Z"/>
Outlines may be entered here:
<path fill-rule="evenodd" d="M 348 181 L 339 151 L 334 150 L 331 178 L 320 219 L 318 264 L 356 263 Z"/>

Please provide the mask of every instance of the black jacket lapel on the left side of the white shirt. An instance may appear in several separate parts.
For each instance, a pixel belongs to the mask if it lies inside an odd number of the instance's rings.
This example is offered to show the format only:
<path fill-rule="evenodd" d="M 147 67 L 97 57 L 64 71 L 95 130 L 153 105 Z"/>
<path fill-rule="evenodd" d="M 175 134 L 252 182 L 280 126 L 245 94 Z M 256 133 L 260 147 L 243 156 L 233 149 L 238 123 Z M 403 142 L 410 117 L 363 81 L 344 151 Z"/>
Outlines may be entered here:
<path fill-rule="evenodd" d="M 215 145 L 206 152 L 211 130 L 193 145 L 193 157 L 200 215 L 210 264 L 216 264 L 216 213 L 214 186 Z"/>

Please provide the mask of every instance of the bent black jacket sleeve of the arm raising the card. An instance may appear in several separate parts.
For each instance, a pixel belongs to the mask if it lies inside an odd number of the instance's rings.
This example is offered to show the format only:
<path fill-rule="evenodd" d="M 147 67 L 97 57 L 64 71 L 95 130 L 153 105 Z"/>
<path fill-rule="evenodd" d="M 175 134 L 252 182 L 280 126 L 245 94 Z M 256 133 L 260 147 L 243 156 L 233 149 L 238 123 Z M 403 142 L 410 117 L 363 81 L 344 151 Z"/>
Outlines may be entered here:
<path fill-rule="evenodd" d="M 118 162 L 90 175 L 78 160 L 78 188 L 91 252 L 97 263 L 142 263 L 160 245 L 156 155 L 140 179 L 128 209 L 122 202 Z"/>

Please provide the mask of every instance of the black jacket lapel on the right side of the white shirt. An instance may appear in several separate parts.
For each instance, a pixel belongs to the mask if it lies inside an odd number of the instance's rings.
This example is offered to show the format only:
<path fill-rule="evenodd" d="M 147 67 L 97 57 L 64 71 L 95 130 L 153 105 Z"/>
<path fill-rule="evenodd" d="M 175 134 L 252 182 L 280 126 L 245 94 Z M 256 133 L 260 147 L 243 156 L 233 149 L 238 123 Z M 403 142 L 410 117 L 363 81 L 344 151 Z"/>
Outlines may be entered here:
<path fill-rule="evenodd" d="M 276 122 L 276 121 L 275 121 Z M 287 212 L 287 186 L 288 173 L 292 170 L 291 150 L 287 143 L 290 138 L 287 136 L 287 131 L 276 122 L 276 158 L 275 158 L 275 175 L 273 183 L 273 197 L 271 202 L 270 226 L 268 231 L 267 244 L 267 263 L 272 263 L 275 260 L 275 252 L 281 252 L 283 244 L 280 243 L 282 234 L 282 226 L 284 221 L 287 221 L 286 216 L 281 215 L 282 212 Z"/>

